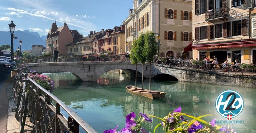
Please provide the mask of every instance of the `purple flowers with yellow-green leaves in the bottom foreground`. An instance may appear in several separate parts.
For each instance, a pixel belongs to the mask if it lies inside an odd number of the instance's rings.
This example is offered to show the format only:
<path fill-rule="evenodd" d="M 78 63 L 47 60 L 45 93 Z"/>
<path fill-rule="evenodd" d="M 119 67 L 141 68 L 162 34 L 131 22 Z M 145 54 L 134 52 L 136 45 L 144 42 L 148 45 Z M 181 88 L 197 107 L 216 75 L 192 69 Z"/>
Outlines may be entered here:
<path fill-rule="evenodd" d="M 216 119 L 213 119 L 211 122 L 204 121 L 203 117 L 210 115 L 202 115 L 199 117 L 194 117 L 191 115 L 187 115 L 185 113 L 181 113 L 181 107 L 175 109 L 172 112 L 169 112 L 167 116 L 164 118 L 159 118 L 154 115 L 148 115 L 151 117 L 155 117 L 161 121 L 161 123 L 157 124 L 154 128 L 154 133 L 158 127 L 163 127 L 164 133 L 236 133 L 232 127 L 228 126 L 218 126 L 215 123 Z M 136 114 L 134 112 L 130 113 L 126 116 L 126 124 L 125 127 L 121 131 L 116 131 L 115 129 L 109 129 L 103 131 L 103 133 L 149 133 L 145 128 L 142 127 L 142 123 L 152 122 L 150 118 L 148 118 L 146 114 L 140 113 L 139 119 L 136 118 Z M 187 116 L 192 120 L 184 119 L 183 116 Z M 204 127 L 203 127 L 203 125 Z"/>

